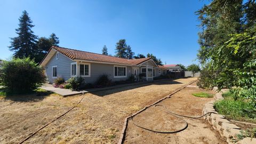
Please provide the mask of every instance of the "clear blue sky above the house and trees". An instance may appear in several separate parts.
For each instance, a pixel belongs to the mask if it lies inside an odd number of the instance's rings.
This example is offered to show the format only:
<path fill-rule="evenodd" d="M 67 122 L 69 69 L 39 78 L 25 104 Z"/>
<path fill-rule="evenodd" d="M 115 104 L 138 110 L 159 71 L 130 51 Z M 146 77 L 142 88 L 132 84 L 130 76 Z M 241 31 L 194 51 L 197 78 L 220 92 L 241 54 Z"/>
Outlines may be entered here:
<path fill-rule="evenodd" d="M 195 61 L 197 15 L 208 1 L 12 1 L 0 4 L 0 59 L 10 58 L 10 37 L 15 37 L 18 18 L 29 13 L 35 35 L 55 33 L 60 46 L 101 53 L 103 45 L 115 54 L 115 44 L 126 39 L 136 53 L 153 53 L 167 64 Z"/>

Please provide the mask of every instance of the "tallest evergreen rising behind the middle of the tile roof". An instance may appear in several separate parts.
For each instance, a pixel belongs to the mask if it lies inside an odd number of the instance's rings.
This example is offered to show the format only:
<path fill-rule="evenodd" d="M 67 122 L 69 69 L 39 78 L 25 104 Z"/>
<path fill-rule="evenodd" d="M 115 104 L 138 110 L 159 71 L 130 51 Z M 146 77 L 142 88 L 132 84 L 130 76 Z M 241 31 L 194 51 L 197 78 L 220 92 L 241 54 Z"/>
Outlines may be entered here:
<path fill-rule="evenodd" d="M 126 58 L 126 50 L 127 50 L 127 45 L 125 42 L 125 39 L 120 39 L 116 43 L 116 57 L 118 58 Z"/>

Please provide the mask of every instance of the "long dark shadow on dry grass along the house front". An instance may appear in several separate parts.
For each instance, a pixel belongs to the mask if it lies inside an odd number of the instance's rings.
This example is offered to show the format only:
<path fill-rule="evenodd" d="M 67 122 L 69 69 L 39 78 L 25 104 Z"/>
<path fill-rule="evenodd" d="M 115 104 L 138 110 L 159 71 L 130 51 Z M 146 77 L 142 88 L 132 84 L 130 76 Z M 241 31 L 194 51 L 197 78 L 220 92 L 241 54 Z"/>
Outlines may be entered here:
<path fill-rule="evenodd" d="M 123 91 L 127 91 L 127 90 L 137 89 L 139 87 L 148 86 L 148 85 L 168 85 L 168 84 L 182 84 L 182 83 L 172 81 L 172 80 L 164 80 L 164 81 L 153 82 L 153 83 L 145 83 L 145 84 L 138 84 L 138 85 L 135 85 L 135 84 L 136 83 L 134 83 L 134 85 L 113 88 L 113 89 L 108 89 L 108 90 L 102 90 L 102 91 L 95 91 L 95 92 L 90 92 L 90 93 L 97 95 L 99 97 L 104 97 L 109 94 L 114 94 L 114 93 L 123 92 Z"/>

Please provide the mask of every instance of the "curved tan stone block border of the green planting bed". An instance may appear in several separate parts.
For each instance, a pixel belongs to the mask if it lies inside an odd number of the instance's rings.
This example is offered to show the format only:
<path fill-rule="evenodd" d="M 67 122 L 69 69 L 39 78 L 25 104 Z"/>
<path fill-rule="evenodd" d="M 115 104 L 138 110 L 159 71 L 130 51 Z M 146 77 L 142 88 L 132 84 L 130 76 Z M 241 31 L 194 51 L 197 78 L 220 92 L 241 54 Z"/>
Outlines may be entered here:
<path fill-rule="evenodd" d="M 236 143 L 236 144 L 253 144 L 256 143 L 256 139 L 253 138 L 244 138 L 243 140 L 239 140 L 237 142 L 233 142 L 233 138 L 237 139 L 237 134 L 240 134 L 240 127 L 236 126 L 235 124 L 231 124 L 230 121 L 228 121 L 225 116 L 218 114 L 218 112 L 214 109 L 214 102 L 218 100 L 224 99 L 222 97 L 223 92 L 227 92 L 228 89 L 222 89 L 220 92 L 217 91 L 217 88 L 214 87 L 213 91 L 217 92 L 215 94 L 214 100 L 209 101 L 205 104 L 205 107 L 203 109 L 203 114 L 213 112 L 216 114 L 206 115 L 204 116 L 204 119 L 206 119 L 207 122 L 209 122 L 213 129 L 219 131 L 221 137 L 227 138 L 227 142 L 229 144 Z"/>

